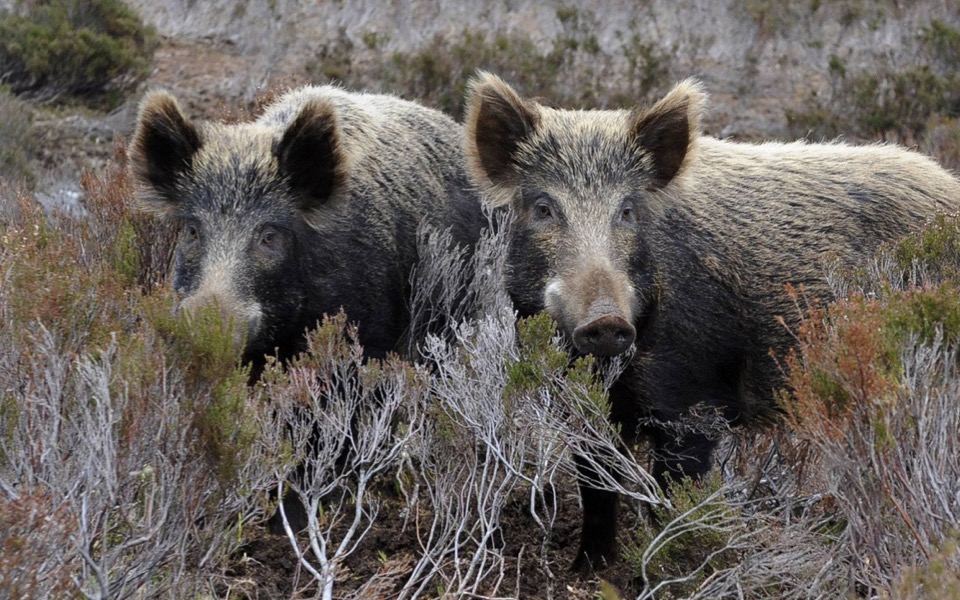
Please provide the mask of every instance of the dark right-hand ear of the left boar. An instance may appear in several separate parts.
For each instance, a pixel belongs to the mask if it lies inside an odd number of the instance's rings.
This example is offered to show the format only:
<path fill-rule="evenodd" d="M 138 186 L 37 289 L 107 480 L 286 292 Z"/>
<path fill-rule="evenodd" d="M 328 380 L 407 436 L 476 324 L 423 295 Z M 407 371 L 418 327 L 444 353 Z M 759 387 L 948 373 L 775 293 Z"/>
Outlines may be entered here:
<path fill-rule="evenodd" d="M 300 210 L 325 205 L 346 182 L 336 108 L 318 98 L 307 101 L 287 126 L 274 155 Z"/>

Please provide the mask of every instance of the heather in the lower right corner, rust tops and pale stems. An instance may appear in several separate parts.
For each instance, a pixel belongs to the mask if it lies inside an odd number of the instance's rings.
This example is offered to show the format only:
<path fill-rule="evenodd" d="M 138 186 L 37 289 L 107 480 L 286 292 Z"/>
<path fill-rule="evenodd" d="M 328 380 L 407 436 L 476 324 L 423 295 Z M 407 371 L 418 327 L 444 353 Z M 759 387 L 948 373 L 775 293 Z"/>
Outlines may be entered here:
<path fill-rule="evenodd" d="M 828 265 L 827 274 L 838 297 L 885 307 L 940 283 L 931 265 L 914 261 L 908 271 L 884 252 L 861 272 Z M 838 409 L 833 396 L 801 385 L 785 398 L 792 430 L 741 433 L 730 444 L 719 495 L 701 501 L 692 524 L 668 523 L 658 537 L 682 527 L 715 531 L 717 547 L 737 558 L 715 561 L 677 597 L 957 597 L 948 576 L 960 568 L 957 348 L 939 326 L 932 339 L 912 335 L 891 376 L 870 346 L 870 317 L 842 304 L 829 318 L 812 312 L 816 333 L 802 337 L 792 367 L 839 382 L 847 404 Z"/>

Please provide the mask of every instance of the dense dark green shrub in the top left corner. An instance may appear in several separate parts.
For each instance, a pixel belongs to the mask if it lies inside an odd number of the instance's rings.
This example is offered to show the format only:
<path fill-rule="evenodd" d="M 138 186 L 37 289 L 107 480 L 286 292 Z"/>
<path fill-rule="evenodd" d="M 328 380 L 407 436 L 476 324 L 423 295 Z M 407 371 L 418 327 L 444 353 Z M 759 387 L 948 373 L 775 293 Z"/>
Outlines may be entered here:
<path fill-rule="evenodd" d="M 17 94 L 116 104 L 142 81 L 157 45 L 119 0 L 33 0 L 0 12 L 0 73 Z"/>

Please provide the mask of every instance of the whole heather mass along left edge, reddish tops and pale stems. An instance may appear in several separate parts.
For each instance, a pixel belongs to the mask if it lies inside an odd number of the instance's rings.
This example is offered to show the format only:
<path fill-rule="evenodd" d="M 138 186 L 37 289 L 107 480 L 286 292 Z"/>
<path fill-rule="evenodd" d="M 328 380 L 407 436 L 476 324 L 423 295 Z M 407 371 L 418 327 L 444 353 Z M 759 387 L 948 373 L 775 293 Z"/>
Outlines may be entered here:
<path fill-rule="evenodd" d="M 23 199 L 8 206 L 17 208 L 4 215 L 0 252 L 3 595 L 151 598 L 211 589 L 237 528 L 256 516 L 249 489 L 265 485 L 268 457 L 247 449 L 228 481 L 197 425 L 209 390 L 195 394 L 153 330 L 127 319 L 109 323 L 112 333 L 97 330 L 104 315 L 134 302 L 97 287 L 110 280 L 91 265 L 108 257 L 82 238 L 90 232 L 69 219 L 63 232 L 48 230 L 54 225 L 42 225 Z M 69 266 L 29 262 L 76 248 L 83 255 Z M 50 275 L 18 289 L 30 269 Z M 97 293 L 101 315 L 87 306 Z M 251 395 L 243 414 L 258 418 L 260 404 Z M 229 429 L 224 439 L 240 427 Z"/>

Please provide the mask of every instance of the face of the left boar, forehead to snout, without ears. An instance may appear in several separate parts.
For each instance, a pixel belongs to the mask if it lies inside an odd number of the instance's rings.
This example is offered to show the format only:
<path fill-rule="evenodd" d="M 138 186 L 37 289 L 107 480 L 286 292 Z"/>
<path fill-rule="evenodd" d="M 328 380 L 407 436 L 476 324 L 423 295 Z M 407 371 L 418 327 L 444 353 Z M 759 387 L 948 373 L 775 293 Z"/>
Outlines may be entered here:
<path fill-rule="evenodd" d="M 273 354 L 285 322 L 297 320 L 304 288 L 300 247 L 316 236 L 275 183 L 226 165 L 181 184 L 173 287 L 180 309 L 215 305 L 251 357 Z M 216 184 L 211 185 L 211 181 Z"/>

